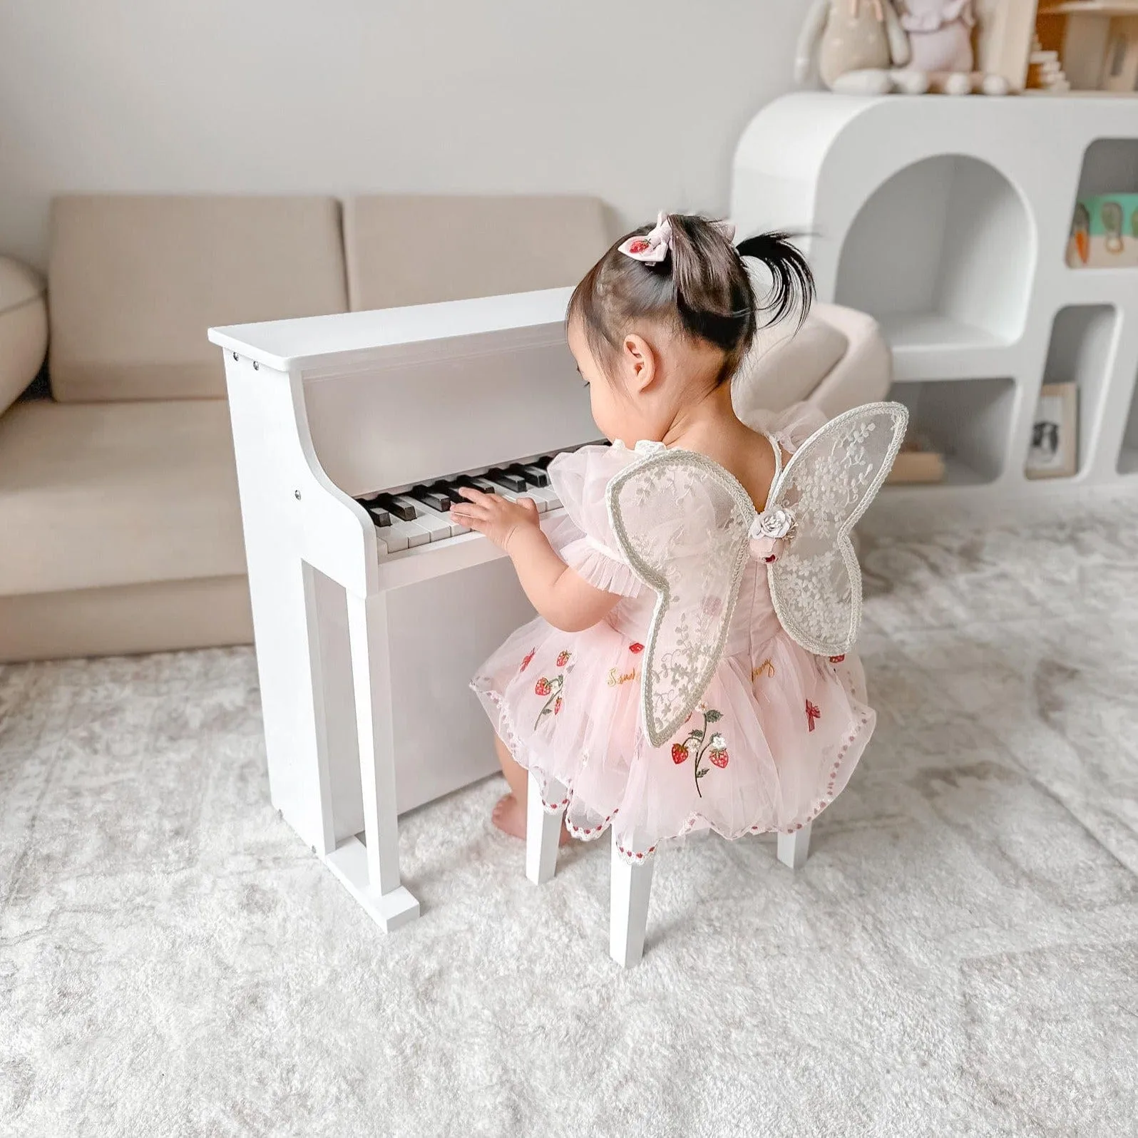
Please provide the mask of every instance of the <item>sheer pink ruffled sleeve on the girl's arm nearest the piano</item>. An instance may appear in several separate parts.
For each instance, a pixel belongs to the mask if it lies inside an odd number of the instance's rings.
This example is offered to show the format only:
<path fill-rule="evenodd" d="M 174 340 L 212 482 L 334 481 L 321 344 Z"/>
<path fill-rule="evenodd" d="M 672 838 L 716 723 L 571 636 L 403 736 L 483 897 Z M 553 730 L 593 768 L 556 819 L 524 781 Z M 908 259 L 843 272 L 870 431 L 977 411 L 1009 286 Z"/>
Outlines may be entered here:
<path fill-rule="evenodd" d="M 549 530 L 562 560 L 594 588 L 636 596 L 641 580 L 620 555 L 604 492 L 609 480 L 628 465 L 635 452 L 624 446 L 583 446 L 550 463 L 550 481 L 566 517 Z"/>

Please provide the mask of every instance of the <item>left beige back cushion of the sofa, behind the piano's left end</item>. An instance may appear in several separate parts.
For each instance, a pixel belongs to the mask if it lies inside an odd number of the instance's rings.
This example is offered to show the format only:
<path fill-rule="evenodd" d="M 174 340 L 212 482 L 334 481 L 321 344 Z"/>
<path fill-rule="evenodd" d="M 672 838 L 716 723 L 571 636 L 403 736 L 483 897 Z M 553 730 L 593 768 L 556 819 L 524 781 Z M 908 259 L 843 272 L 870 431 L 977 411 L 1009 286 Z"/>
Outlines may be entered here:
<path fill-rule="evenodd" d="M 222 396 L 217 324 L 343 312 L 339 205 L 311 197 L 63 197 L 51 205 L 57 399 Z"/>

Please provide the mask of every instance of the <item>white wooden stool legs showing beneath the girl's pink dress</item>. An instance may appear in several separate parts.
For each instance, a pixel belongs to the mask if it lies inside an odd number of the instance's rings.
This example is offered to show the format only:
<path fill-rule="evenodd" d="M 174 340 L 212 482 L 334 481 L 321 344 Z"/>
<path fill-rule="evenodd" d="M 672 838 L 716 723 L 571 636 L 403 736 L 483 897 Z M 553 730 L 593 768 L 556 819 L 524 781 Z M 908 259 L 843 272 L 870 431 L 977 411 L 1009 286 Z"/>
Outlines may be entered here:
<path fill-rule="evenodd" d="M 560 783 L 545 787 L 550 800 L 564 797 Z M 542 802 L 537 780 L 529 776 L 526 803 L 526 876 L 535 885 L 544 885 L 558 867 L 558 846 L 564 807 L 547 810 Z M 778 835 L 778 860 L 791 869 L 801 869 L 810 852 L 810 823 L 792 834 Z M 633 863 L 622 857 L 612 841 L 611 892 L 609 899 L 609 955 L 622 967 L 630 968 L 644 955 L 644 930 L 648 925 L 648 898 L 652 890 L 654 858 Z"/>

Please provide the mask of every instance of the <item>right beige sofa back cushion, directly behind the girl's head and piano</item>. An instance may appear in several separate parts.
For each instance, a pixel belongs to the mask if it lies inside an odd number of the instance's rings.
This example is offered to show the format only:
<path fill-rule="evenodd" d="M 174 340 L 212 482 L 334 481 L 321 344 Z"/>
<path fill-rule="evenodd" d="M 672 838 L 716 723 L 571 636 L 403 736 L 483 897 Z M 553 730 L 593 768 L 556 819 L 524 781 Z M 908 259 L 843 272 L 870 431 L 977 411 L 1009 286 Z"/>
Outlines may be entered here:
<path fill-rule="evenodd" d="M 609 245 L 597 198 L 369 195 L 344 205 L 353 312 L 576 284 Z"/>

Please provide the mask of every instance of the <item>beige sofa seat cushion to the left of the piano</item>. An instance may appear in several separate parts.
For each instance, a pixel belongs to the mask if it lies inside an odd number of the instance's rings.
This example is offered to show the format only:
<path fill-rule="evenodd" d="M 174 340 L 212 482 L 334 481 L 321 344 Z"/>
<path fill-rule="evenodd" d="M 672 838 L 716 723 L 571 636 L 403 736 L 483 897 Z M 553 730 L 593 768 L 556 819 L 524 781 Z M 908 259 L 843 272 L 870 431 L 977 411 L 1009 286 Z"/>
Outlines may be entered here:
<path fill-rule="evenodd" d="M 228 404 L 17 403 L 0 534 L 0 595 L 244 574 Z"/>

